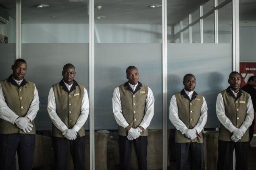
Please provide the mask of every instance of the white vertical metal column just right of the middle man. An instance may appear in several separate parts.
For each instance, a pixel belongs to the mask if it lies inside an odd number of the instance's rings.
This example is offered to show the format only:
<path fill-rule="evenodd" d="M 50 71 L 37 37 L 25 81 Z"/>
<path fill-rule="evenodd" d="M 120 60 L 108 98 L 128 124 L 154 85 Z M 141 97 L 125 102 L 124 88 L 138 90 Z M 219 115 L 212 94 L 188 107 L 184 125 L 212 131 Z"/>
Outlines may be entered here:
<path fill-rule="evenodd" d="M 162 0 L 162 169 L 167 170 L 167 0 Z"/>

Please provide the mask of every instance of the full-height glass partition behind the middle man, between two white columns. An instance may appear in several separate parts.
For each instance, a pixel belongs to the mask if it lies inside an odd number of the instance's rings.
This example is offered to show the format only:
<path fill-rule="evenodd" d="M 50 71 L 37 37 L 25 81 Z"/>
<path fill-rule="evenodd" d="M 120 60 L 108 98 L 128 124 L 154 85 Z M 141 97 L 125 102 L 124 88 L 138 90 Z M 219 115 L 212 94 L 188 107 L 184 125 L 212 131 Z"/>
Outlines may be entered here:
<path fill-rule="evenodd" d="M 99 160 L 95 169 L 104 165 L 113 170 L 119 166 L 118 124 L 112 110 L 112 96 L 116 87 L 128 81 L 128 66 L 138 68 L 139 82 L 146 84 L 154 94 L 154 117 L 148 127 L 147 164 L 148 169 L 162 169 L 161 1 L 156 0 L 150 4 L 145 0 L 139 0 L 137 3 L 100 0 L 95 6 L 96 145 L 101 140 L 101 137 L 98 137 L 99 132 L 108 135 L 105 139 L 108 141 L 104 145 L 106 152 L 100 153 L 104 158 L 107 154 L 107 163 L 106 159 Z M 97 150 L 97 146 L 95 148 Z M 95 153 L 97 158 L 97 152 Z M 137 169 L 134 149 L 131 169 Z"/>

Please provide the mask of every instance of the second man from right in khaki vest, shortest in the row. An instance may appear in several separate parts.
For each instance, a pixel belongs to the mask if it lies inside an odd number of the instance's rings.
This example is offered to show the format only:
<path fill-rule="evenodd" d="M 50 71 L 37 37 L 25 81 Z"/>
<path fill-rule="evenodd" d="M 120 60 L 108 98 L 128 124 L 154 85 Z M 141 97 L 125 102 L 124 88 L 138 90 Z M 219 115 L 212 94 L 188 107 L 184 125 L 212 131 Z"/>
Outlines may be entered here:
<path fill-rule="evenodd" d="M 196 78 L 186 74 L 184 89 L 174 94 L 170 102 L 170 121 L 175 129 L 175 154 L 177 170 L 204 169 L 204 140 L 202 130 L 207 121 L 207 104 L 204 96 L 194 91 Z"/>

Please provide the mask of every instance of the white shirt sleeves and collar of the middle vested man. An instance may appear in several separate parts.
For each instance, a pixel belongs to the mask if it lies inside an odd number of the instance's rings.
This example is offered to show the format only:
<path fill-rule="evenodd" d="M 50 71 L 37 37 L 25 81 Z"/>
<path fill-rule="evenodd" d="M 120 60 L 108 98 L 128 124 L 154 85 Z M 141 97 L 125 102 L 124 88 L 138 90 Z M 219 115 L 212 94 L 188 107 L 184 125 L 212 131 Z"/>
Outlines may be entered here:
<path fill-rule="evenodd" d="M 133 91 L 136 89 L 137 85 L 132 85 L 128 83 L 129 86 L 133 89 Z M 145 107 L 145 115 L 142 119 L 142 122 L 139 124 L 139 126 L 143 127 L 144 129 L 147 129 L 150 121 L 152 120 L 152 117 L 154 115 L 154 96 L 152 90 L 148 87 L 148 94 L 146 98 L 146 107 Z M 119 92 L 119 87 L 114 89 L 113 98 L 112 98 L 112 104 L 113 104 L 113 112 L 114 112 L 114 118 L 117 121 L 117 124 L 119 126 L 122 126 L 123 128 L 129 126 L 127 121 L 125 120 L 125 117 L 122 114 L 122 103 L 121 103 L 121 96 Z"/>

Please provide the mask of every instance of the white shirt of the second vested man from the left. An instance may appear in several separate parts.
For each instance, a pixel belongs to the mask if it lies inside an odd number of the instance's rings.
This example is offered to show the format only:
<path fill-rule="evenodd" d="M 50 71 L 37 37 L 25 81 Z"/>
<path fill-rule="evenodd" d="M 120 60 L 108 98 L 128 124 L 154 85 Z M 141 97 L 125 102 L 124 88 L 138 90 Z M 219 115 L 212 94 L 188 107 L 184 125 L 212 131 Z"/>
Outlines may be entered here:
<path fill-rule="evenodd" d="M 71 89 L 71 85 L 68 85 L 64 82 L 64 84 L 67 86 L 68 90 Z M 50 89 L 49 96 L 48 96 L 48 105 L 47 110 L 49 113 L 50 118 L 52 119 L 52 123 L 63 133 L 65 130 L 69 129 L 65 123 L 62 122 L 60 117 L 58 117 L 58 114 L 56 113 L 56 102 L 55 102 L 55 96 L 53 92 L 53 88 Z M 85 124 L 85 121 L 87 120 L 89 115 L 89 98 L 87 94 L 87 90 L 84 88 L 84 94 L 81 104 L 81 113 L 77 119 L 77 122 L 73 126 L 73 129 L 76 131 L 79 131 L 81 127 Z"/>

